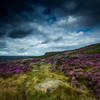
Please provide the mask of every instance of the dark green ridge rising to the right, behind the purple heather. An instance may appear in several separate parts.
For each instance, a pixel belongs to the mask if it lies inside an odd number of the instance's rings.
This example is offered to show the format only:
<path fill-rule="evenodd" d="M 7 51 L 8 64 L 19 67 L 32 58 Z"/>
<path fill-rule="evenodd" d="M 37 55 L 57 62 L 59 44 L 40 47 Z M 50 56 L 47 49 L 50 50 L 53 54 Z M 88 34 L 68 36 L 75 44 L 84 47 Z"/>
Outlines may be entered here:
<path fill-rule="evenodd" d="M 40 56 L 40 57 L 55 57 L 55 56 L 59 56 L 59 55 L 87 55 L 87 54 L 97 54 L 100 53 L 100 43 L 97 44 L 92 44 L 92 45 L 88 45 L 82 48 L 78 48 L 75 50 L 65 50 L 65 51 L 60 51 L 60 52 L 47 52 L 45 53 L 45 55 Z"/>

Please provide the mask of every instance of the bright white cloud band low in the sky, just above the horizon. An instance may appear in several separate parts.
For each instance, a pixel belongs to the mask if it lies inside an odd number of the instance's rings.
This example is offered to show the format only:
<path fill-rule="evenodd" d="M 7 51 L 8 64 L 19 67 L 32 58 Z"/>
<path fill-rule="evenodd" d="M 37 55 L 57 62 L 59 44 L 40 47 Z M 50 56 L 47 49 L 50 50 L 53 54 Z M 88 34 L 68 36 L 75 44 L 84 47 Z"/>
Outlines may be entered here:
<path fill-rule="evenodd" d="M 50 40 L 47 39 L 47 42 L 46 42 L 46 37 L 41 37 L 39 35 L 35 37 L 33 34 L 28 35 L 27 37 L 24 38 L 6 37 L 5 39 L 1 40 L 1 43 L 6 44 L 6 49 L 5 47 L 2 47 L 3 51 L 0 51 L 0 55 L 37 56 L 37 55 L 43 55 L 45 52 L 49 51 L 62 51 L 62 50 L 75 49 L 100 41 L 100 38 L 97 38 L 95 32 L 93 32 L 92 35 L 86 35 L 87 32 L 83 31 L 68 32 L 67 34 L 63 34 L 60 36 L 59 34 L 56 34 L 55 38 L 53 38 L 53 34 L 51 37 L 48 31 L 46 32 L 47 33 L 45 34 L 48 34 L 47 36 L 50 39 Z M 91 33 L 88 32 L 88 34 Z M 93 34 L 95 34 L 95 37 L 93 36 Z"/>

